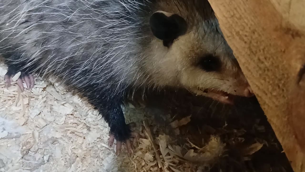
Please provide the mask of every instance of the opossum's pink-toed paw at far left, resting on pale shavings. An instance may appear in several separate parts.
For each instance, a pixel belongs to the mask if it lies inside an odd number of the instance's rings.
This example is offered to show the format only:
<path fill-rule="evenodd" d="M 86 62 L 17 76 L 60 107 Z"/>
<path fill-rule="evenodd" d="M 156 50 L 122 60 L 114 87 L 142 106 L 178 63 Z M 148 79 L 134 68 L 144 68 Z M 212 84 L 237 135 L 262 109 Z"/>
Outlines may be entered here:
<path fill-rule="evenodd" d="M 9 68 L 9 70 L 5 74 L 4 80 L 5 80 L 5 84 L 6 84 L 7 88 L 9 88 L 11 86 L 11 77 L 16 75 L 16 73 L 18 73 L 18 72 Z M 35 84 L 34 76 L 32 74 L 21 72 L 20 77 L 17 79 L 17 84 L 18 84 L 20 90 L 23 92 L 24 87 L 23 87 L 22 80 L 24 80 L 25 84 L 27 85 L 27 89 L 32 90 L 32 88 L 34 87 L 34 84 Z"/>

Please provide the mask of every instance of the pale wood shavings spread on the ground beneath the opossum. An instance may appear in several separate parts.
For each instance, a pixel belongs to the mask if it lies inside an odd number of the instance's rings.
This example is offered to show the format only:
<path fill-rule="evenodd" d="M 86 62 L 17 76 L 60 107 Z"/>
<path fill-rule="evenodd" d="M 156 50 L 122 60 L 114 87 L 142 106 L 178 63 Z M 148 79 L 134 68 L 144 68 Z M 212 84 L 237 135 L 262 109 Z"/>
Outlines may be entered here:
<path fill-rule="evenodd" d="M 21 92 L 15 76 L 7 89 L 6 71 L 0 63 L 0 171 L 203 171 L 224 152 L 218 136 L 203 141 L 202 148 L 190 141 L 178 146 L 154 125 L 145 105 L 128 103 L 126 120 L 138 124 L 142 138 L 133 155 L 117 157 L 107 145 L 108 125 L 85 99 L 54 78 L 35 76 L 33 90 Z M 175 120 L 171 126 L 179 134 L 179 126 L 189 121 Z"/>

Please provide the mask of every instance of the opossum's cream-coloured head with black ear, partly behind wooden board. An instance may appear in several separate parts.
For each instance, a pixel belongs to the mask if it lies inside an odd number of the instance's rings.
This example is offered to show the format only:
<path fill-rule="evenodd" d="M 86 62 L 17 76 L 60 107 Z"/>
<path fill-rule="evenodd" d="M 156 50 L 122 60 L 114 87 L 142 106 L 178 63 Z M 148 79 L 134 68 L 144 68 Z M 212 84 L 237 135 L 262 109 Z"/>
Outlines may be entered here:
<path fill-rule="evenodd" d="M 212 9 L 164 6 L 149 21 L 152 65 L 158 65 L 150 68 L 157 70 L 158 84 L 179 85 L 223 103 L 232 103 L 234 95 L 253 96 Z"/>

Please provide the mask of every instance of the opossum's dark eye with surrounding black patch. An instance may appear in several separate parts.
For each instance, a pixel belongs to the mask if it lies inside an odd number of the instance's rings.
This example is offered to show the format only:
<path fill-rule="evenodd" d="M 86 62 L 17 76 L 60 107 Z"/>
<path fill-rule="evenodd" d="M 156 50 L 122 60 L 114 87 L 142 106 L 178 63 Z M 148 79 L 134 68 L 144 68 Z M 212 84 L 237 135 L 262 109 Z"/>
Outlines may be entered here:
<path fill-rule="evenodd" d="M 221 68 L 221 61 L 218 57 L 213 54 L 206 54 L 199 62 L 200 67 L 207 71 L 219 71 Z"/>

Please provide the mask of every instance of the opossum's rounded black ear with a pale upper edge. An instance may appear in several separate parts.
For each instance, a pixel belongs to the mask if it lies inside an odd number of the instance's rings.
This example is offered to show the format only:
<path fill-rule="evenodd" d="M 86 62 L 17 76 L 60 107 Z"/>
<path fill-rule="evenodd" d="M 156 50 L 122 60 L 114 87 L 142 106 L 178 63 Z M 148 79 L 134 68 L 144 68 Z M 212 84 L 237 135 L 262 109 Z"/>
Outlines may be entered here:
<path fill-rule="evenodd" d="M 163 45 L 166 47 L 169 47 L 179 36 L 184 35 L 187 30 L 187 23 L 181 16 L 164 11 L 153 13 L 149 24 L 153 35 L 163 40 Z"/>

